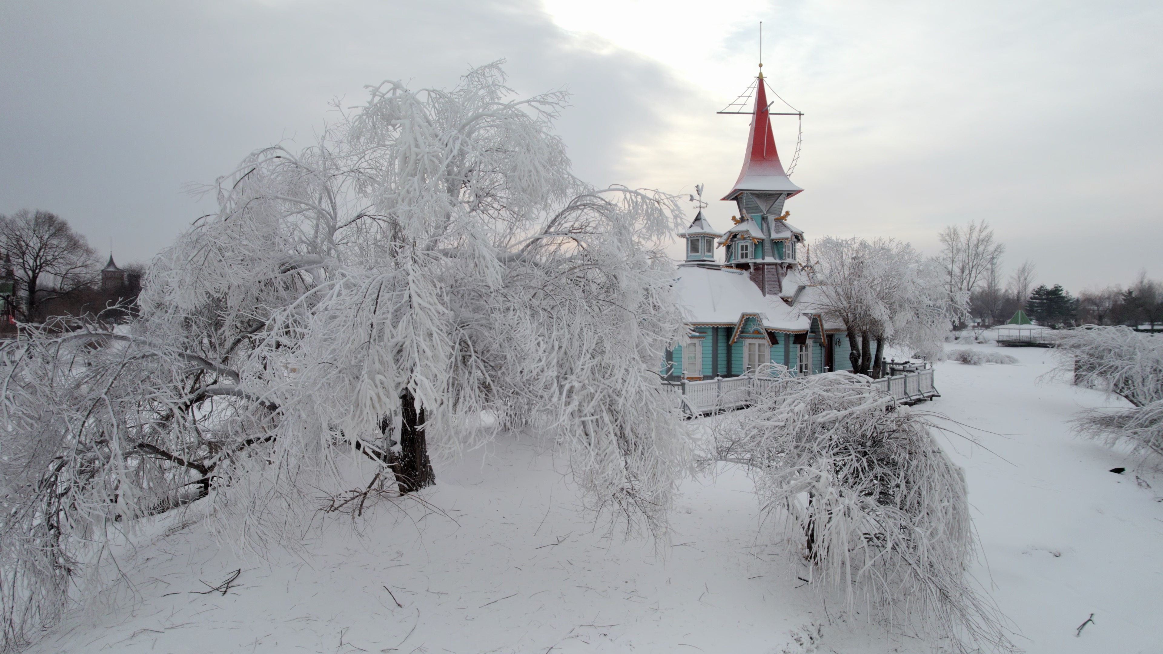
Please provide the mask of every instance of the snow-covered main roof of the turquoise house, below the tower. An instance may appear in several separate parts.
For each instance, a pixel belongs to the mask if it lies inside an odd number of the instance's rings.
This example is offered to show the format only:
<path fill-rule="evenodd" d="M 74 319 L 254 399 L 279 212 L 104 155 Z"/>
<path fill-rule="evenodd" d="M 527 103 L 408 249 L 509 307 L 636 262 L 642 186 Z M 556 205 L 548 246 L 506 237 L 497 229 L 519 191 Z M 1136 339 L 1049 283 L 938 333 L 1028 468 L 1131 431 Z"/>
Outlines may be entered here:
<path fill-rule="evenodd" d="M 811 321 L 776 296 L 764 296 L 747 272 L 684 266 L 675 289 L 688 322 L 736 325 L 743 314 L 758 314 L 763 326 L 780 332 L 807 332 Z"/>

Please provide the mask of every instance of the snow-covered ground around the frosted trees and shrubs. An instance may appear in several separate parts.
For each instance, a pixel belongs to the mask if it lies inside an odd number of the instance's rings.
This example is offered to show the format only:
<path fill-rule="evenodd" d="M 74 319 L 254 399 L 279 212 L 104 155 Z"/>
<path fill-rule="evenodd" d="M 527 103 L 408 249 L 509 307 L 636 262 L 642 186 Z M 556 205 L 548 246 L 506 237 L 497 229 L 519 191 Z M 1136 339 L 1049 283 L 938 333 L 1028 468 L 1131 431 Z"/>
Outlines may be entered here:
<path fill-rule="evenodd" d="M 939 364 L 943 397 L 919 407 L 980 429 L 980 445 L 947 441 L 968 472 L 977 577 L 1028 652 L 1160 652 L 1163 478 L 1139 471 L 1136 484 L 1135 462 L 1069 434 L 1072 414 L 1106 400 L 1039 382 L 1050 350 L 1004 351 L 1021 364 Z M 1127 472 L 1107 471 L 1119 465 Z M 499 442 L 437 475 L 426 498 L 440 511 L 380 503 L 358 533 L 348 517 L 320 517 L 301 555 L 240 559 L 199 526 L 170 525 L 134 555 L 135 602 L 73 618 L 31 651 L 926 651 L 825 611 L 789 550 L 759 535 L 737 470 L 685 485 L 665 543 L 586 521 L 561 465 L 527 443 Z M 226 595 L 192 592 L 235 569 Z"/>

